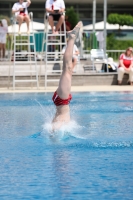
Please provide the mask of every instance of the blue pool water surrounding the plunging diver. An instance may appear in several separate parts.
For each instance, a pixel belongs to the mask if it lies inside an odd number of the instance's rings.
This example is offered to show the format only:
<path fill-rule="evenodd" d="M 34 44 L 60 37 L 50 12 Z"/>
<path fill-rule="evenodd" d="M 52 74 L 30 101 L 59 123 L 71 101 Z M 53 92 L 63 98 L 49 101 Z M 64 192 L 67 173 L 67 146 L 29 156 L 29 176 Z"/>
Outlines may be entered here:
<path fill-rule="evenodd" d="M 54 138 L 52 94 L 0 94 L 0 200 L 132 200 L 133 93 L 73 93 Z"/>

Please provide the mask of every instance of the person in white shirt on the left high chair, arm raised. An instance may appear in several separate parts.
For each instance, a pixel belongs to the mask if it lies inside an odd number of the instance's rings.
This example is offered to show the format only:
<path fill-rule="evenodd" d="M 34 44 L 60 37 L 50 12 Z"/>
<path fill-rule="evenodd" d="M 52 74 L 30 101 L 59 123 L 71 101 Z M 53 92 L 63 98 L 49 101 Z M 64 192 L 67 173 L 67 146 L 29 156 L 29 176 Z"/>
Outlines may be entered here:
<path fill-rule="evenodd" d="M 19 24 L 19 34 L 21 34 L 20 27 L 21 27 L 22 22 L 24 21 L 27 24 L 27 33 L 29 34 L 30 18 L 28 15 L 27 7 L 29 7 L 30 4 L 31 4 L 30 0 L 27 0 L 26 2 L 24 2 L 24 0 L 19 0 L 19 2 L 15 3 L 12 7 L 12 13 L 15 14 L 16 19 Z"/>

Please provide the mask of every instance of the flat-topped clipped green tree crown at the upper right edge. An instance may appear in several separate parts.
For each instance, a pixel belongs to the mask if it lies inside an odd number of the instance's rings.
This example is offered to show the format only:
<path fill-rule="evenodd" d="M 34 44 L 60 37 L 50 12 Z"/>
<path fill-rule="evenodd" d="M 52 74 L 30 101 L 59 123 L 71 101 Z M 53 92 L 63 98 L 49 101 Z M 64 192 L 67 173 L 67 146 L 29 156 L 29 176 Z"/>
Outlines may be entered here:
<path fill-rule="evenodd" d="M 133 24 L 133 17 L 131 15 L 121 15 L 112 13 L 108 15 L 107 21 L 109 24 L 119 24 L 119 26 L 131 26 Z"/>

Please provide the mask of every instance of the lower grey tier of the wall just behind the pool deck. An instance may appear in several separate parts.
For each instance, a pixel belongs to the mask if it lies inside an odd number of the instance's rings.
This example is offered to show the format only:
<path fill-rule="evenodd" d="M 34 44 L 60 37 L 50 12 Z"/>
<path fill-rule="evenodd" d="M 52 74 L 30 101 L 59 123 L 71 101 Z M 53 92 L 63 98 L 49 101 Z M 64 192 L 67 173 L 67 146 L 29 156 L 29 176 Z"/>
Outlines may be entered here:
<path fill-rule="evenodd" d="M 19 76 L 16 79 L 30 79 L 30 76 Z M 32 77 L 35 79 L 35 76 Z M 60 75 L 49 75 L 48 79 L 59 79 Z M 124 75 L 123 85 L 127 85 L 128 75 Z M 45 77 L 39 77 L 39 86 L 44 87 Z M 0 76 L 0 88 L 12 88 L 13 77 Z M 48 82 L 48 86 L 57 86 L 58 82 Z M 74 74 L 72 77 L 72 86 L 91 86 L 91 85 L 117 85 L 116 73 L 99 73 L 99 74 Z M 16 87 L 36 87 L 36 83 L 16 83 Z"/>

